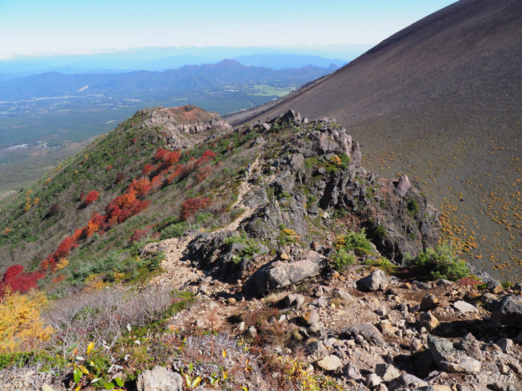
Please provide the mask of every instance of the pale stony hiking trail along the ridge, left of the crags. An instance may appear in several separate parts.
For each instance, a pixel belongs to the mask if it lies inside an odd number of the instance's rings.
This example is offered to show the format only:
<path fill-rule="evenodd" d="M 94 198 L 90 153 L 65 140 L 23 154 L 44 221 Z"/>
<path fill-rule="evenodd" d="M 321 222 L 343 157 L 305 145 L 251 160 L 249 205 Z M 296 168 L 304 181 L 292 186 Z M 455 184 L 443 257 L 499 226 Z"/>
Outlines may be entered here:
<path fill-rule="evenodd" d="M 252 163 L 251 175 L 254 170 L 261 172 L 264 163 L 263 156 L 264 145 L 259 148 L 259 152 L 255 161 Z M 268 178 L 270 180 L 271 176 Z M 231 205 L 230 210 L 243 209 L 243 213 L 234 219 L 229 224 L 212 231 L 212 233 L 235 231 L 239 228 L 245 219 L 252 216 L 257 206 L 248 207 L 243 203 L 245 194 L 255 191 L 255 189 L 262 185 L 256 185 L 248 182 L 249 177 L 242 176 L 241 185 L 239 187 L 238 199 Z M 158 253 L 164 251 L 165 259 L 161 263 L 161 267 L 165 273 L 157 276 L 151 280 L 154 285 L 169 286 L 174 289 L 184 289 L 187 284 L 199 278 L 204 278 L 205 274 L 192 266 L 190 260 L 183 260 L 183 255 L 188 247 L 188 244 L 195 238 L 195 235 L 183 236 L 180 238 L 165 239 L 160 242 L 150 243 L 145 246 L 143 252 Z"/>

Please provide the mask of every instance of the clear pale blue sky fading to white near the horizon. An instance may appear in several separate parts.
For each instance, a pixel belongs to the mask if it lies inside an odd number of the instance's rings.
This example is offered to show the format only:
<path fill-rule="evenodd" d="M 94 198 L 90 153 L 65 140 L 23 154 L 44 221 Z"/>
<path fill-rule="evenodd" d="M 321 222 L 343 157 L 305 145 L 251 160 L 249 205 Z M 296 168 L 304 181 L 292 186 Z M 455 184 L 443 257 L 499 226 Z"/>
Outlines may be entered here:
<path fill-rule="evenodd" d="M 0 60 L 146 46 L 376 44 L 448 0 L 0 0 Z"/>

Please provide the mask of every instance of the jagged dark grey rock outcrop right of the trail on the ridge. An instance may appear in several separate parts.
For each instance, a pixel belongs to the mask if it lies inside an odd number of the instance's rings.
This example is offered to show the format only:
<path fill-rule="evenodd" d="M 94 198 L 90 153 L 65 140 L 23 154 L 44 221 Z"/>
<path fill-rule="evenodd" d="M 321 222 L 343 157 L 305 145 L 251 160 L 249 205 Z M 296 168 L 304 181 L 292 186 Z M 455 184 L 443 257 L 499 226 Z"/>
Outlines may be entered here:
<path fill-rule="evenodd" d="M 304 124 L 294 112 L 272 119 L 270 126 L 292 126 L 293 132 L 263 167 L 263 175 L 274 177 L 267 186 L 270 202 L 245 222 L 250 236 L 274 246 L 281 227 L 304 237 L 310 231 L 308 219 L 322 216 L 328 225 L 340 213 L 353 216 L 358 223 L 353 229 L 366 227 L 378 252 L 397 264 L 407 253 L 414 256 L 437 245 L 435 208 L 409 181 L 401 196 L 392 181 L 366 172 L 359 143 L 347 129 L 327 118 Z M 405 189 L 405 178 L 401 180 Z"/>

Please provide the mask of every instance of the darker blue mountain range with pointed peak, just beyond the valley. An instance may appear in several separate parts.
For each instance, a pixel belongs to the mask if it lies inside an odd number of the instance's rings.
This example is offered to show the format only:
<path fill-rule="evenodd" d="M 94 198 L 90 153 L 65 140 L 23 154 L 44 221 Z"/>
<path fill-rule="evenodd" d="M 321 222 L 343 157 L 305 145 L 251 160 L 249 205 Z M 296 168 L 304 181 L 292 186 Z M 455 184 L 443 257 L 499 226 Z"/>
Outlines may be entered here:
<path fill-rule="evenodd" d="M 300 83 L 324 76 L 338 67 L 306 66 L 298 69 L 270 69 L 245 66 L 238 60 L 225 59 L 218 64 L 185 65 L 163 72 L 136 71 L 118 74 L 66 75 L 45 72 L 0 82 L 0 100 L 21 100 L 31 97 L 53 97 L 65 94 L 85 96 L 103 94 L 111 97 L 140 99 L 173 96 L 182 91 L 201 90 L 229 83 L 281 79 Z"/>

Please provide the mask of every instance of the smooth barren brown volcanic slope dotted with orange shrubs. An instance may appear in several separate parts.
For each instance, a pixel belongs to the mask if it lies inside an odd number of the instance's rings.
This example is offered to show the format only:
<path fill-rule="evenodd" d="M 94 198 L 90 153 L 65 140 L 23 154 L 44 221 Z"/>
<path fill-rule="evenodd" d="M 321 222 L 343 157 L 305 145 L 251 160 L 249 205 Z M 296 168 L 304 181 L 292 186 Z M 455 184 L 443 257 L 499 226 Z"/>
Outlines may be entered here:
<path fill-rule="evenodd" d="M 448 235 L 497 277 L 522 272 L 522 3 L 461 0 L 232 125 L 288 108 L 335 117 L 386 176 L 424 186 Z"/>

